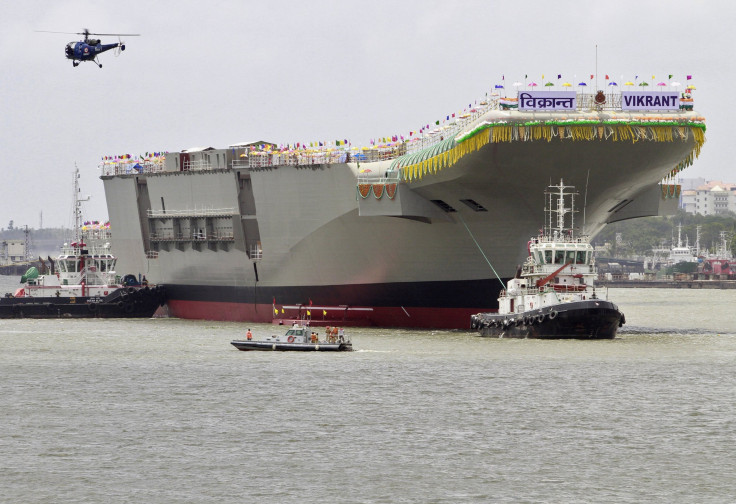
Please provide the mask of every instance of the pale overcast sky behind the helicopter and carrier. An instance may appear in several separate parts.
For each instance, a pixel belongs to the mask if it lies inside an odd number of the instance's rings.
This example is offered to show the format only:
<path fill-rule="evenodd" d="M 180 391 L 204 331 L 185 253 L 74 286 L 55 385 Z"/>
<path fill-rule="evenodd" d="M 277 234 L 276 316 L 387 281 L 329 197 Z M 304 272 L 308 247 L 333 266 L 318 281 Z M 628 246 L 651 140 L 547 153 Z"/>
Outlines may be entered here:
<path fill-rule="evenodd" d="M 105 155 L 349 139 L 462 110 L 515 80 L 690 83 L 707 142 L 682 176 L 736 182 L 736 3 L 721 1 L 0 0 L 0 227 L 106 219 Z M 140 33 L 72 67 L 80 37 Z M 116 37 L 102 37 L 116 42 Z M 562 74 L 557 81 L 557 74 Z M 621 84 L 621 82 L 619 82 Z M 588 88 L 591 89 L 591 88 Z M 682 89 L 682 88 L 680 88 Z M 728 114 L 732 114 L 729 119 Z"/>

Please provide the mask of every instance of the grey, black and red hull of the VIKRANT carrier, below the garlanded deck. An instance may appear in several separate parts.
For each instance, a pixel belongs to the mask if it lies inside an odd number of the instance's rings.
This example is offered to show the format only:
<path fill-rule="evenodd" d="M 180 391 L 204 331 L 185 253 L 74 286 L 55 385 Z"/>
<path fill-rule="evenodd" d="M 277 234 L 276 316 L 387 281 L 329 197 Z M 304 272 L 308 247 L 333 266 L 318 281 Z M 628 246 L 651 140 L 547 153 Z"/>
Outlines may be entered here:
<path fill-rule="evenodd" d="M 659 182 L 694 148 L 692 135 L 491 142 L 394 199 L 356 191 L 361 170 L 389 162 L 102 178 L 120 269 L 165 284 L 172 316 L 467 329 L 523 262 L 551 180 L 581 188 L 576 225 L 594 235 L 674 210 Z M 232 236 L 180 238 L 201 226 Z"/>

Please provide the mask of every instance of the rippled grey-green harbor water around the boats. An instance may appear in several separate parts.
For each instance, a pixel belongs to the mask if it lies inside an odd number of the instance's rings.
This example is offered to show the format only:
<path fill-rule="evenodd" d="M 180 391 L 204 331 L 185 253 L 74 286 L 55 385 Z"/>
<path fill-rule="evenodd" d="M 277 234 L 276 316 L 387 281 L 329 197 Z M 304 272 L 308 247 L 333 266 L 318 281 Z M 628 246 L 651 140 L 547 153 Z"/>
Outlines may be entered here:
<path fill-rule="evenodd" d="M 736 291 L 609 298 L 614 340 L 356 328 L 337 354 L 0 320 L 0 502 L 733 502 Z"/>

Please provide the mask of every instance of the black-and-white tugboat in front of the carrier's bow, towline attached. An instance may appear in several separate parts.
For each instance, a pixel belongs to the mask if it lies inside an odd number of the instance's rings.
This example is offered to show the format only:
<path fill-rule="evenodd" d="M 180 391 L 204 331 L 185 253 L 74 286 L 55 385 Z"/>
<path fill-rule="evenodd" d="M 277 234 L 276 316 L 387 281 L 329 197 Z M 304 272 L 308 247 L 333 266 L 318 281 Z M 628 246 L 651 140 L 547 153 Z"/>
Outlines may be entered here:
<path fill-rule="evenodd" d="M 473 315 L 471 328 L 497 338 L 615 338 L 626 319 L 594 287 L 593 247 L 574 234 L 574 188 L 560 180 L 545 194 L 547 219 L 526 262 L 501 291 L 498 312 Z"/>

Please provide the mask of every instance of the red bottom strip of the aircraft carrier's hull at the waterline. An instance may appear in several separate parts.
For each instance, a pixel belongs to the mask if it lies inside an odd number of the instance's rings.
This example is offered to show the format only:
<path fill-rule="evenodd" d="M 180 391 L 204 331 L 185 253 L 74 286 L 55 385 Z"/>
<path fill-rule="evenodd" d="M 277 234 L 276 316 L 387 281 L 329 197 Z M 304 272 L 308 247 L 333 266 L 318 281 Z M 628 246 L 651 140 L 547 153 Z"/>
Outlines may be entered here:
<path fill-rule="evenodd" d="M 470 329 L 470 317 L 487 308 L 375 308 L 340 309 L 306 306 L 301 309 L 270 304 L 169 300 L 169 316 L 195 320 L 223 320 L 291 325 L 309 320 L 313 326 L 405 327 L 416 329 Z M 307 314 L 307 310 L 311 312 Z M 354 311 L 351 311 L 354 310 Z M 325 313 L 326 312 L 326 313 Z"/>

